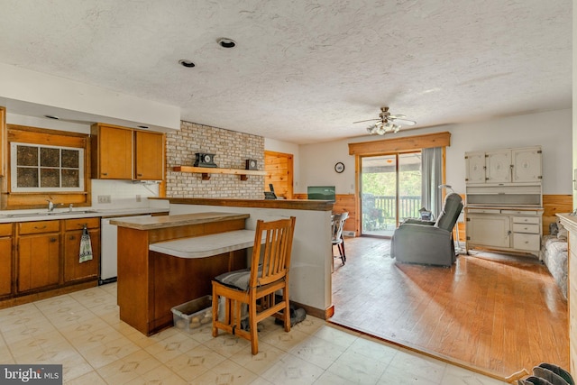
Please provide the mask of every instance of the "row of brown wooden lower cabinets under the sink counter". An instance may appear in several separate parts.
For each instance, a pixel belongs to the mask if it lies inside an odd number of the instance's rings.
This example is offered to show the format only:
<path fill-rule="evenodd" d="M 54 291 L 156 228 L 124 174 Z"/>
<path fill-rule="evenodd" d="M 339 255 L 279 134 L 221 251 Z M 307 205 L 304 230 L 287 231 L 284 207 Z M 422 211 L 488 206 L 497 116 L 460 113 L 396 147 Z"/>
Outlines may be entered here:
<path fill-rule="evenodd" d="M 79 261 L 87 227 L 93 258 Z M 98 284 L 100 218 L 0 224 L 0 308 Z"/>

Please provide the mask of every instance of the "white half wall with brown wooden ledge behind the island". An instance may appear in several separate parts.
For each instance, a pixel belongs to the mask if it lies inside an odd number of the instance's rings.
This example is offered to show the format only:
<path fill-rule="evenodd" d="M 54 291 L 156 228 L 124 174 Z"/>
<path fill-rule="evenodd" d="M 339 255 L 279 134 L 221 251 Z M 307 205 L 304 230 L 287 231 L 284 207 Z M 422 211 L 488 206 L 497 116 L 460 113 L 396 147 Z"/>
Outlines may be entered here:
<path fill-rule="evenodd" d="M 205 212 L 249 214 L 246 229 L 257 220 L 271 221 L 295 216 L 295 234 L 290 260 L 290 301 L 307 314 L 326 319 L 333 315 L 331 287 L 331 214 L 333 202 L 306 199 L 230 199 L 154 197 L 164 200 L 170 215 Z M 184 301 L 183 301 L 184 302 Z"/>

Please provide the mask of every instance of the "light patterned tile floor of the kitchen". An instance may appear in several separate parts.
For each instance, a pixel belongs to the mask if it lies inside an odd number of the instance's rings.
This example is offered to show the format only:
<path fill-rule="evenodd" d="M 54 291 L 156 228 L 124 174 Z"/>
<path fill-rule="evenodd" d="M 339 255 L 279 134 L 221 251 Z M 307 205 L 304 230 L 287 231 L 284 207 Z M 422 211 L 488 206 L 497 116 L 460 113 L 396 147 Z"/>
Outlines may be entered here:
<path fill-rule="evenodd" d="M 205 325 L 146 337 L 120 321 L 116 284 L 0 310 L 2 363 L 58 363 L 66 384 L 503 384 L 307 316 L 263 322 L 259 353 Z"/>

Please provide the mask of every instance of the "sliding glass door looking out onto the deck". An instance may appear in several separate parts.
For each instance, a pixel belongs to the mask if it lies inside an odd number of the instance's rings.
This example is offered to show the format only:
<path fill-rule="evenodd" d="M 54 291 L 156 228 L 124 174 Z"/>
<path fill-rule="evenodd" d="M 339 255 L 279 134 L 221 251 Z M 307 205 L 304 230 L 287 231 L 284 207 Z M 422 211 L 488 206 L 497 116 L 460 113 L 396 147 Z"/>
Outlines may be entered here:
<path fill-rule="evenodd" d="M 421 208 L 421 152 L 361 158 L 361 234 L 389 237 Z"/>

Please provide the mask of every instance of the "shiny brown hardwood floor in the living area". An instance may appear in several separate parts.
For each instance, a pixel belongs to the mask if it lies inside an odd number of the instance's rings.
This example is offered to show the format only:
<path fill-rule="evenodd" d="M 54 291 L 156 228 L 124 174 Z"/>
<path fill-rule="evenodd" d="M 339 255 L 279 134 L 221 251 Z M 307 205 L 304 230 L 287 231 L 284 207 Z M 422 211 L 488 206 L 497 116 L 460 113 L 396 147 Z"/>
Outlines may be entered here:
<path fill-rule="evenodd" d="M 503 378 L 540 362 L 569 368 L 567 302 L 545 265 L 485 252 L 452 268 L 396 264 L 389 244 L 345 239 L 331 322 Z"/>

